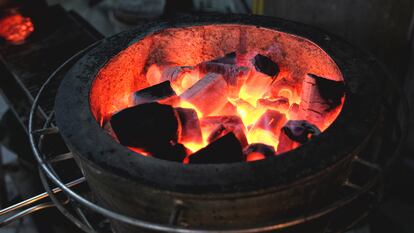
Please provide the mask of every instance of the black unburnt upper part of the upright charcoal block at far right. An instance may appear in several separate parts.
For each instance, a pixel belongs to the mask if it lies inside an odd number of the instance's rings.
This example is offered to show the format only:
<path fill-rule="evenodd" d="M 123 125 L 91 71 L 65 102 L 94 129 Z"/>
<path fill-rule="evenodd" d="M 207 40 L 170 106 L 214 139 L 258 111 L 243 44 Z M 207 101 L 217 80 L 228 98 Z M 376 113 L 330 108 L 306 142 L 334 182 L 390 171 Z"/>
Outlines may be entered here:
<path fill-rule="evenodd" d="M 341 99 L 345 94 L 344 82 L 330 80 L 314 74 L 308 75 L 315 79 L 319 95 L 326 101 L 329 106 L 325 111 L 330 111 L 341 104 Z"/>

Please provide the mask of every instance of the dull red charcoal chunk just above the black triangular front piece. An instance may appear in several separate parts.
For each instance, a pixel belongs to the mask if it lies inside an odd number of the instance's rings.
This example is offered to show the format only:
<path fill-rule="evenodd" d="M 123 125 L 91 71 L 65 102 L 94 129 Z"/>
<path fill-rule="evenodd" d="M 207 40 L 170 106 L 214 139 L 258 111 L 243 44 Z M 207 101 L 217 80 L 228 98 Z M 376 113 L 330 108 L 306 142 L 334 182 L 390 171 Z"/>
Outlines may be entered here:
<path fill-rule="evenodd" d="M 210 135 L 207 139 L 209 143 L 232 132 L 242 147 L 248 145 L 243 121 L 238 116 L 205 117 L 201 120 L 201 126 Z"/>

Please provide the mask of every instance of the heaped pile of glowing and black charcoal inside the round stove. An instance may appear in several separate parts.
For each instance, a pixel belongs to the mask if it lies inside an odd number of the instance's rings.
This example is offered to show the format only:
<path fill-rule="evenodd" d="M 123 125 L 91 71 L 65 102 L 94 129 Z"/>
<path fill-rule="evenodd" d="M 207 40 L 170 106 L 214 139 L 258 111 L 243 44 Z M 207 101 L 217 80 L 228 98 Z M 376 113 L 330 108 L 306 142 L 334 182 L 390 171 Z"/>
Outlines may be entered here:
<path fill-rule="evenodd" d="M 150 86 L 131 93 L 132 107 L 103 128 L 138 154 L 189 164 L 261 160 L 319 135 L 343 102 L 343 82 L 307 74 L 301 96 L 269 96 L 280 67 L 262 54 L 246 56 L 150 65 Z"/>

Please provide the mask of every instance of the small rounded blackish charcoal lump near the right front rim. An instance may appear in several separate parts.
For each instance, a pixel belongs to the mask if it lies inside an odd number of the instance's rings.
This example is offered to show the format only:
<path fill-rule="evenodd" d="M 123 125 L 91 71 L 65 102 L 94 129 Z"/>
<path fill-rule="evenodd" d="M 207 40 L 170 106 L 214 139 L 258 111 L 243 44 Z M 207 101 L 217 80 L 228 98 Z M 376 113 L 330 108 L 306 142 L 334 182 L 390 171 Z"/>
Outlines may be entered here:
<path fill-rule="evenodd" d="M 315 125 L 303 120 L 290 120 L 282 127 L 290 139 L 301 144 L 309 141 L 310 137 L 317 136 L 321 131 Z"/>

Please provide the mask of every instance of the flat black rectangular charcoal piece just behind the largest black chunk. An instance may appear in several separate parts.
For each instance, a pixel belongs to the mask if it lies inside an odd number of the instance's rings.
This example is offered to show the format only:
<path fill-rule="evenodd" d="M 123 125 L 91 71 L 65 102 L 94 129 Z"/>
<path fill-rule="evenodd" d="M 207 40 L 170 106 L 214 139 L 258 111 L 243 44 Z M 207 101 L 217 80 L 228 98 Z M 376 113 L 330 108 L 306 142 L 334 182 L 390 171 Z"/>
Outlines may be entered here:
<path fill-rule="evenodd" d="M 156 102 L 168 97 L 176 96 L 171 88 L 170 81 L 165 81 L 134 93 L 134 104 Z"/>

